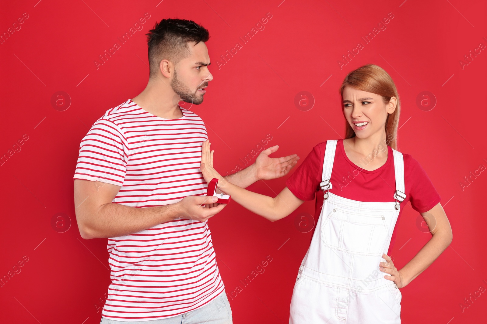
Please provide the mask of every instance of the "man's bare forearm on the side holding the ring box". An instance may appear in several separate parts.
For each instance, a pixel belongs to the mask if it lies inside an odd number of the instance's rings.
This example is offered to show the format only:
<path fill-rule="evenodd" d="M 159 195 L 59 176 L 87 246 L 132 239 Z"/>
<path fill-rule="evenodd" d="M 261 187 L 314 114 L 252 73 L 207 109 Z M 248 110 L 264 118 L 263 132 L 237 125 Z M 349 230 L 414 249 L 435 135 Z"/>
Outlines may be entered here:
<path fill-rule="evenodd" d="M 105 204 L 84 224 L 85 239 L 116 238 L 153 227 L 179 218 L 179 205 L 131 207 L 121 204 Z"/>

